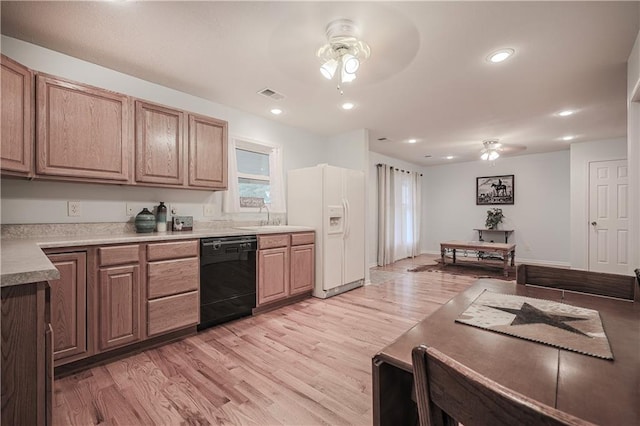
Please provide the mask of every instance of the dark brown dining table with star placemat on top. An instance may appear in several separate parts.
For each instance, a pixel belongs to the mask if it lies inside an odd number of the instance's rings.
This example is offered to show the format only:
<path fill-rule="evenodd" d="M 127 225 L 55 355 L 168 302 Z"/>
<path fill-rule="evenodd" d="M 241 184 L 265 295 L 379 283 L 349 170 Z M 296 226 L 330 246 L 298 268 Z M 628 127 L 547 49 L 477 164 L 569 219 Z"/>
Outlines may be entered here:
<path fill-rule="evenodd" d="M 484 291 L 597 310 L 613 360 L 455 320 Z M 510 389 L 600 425 L 640 425 L 640 303 L 480 279 L 372 360 L 375 425 L 415 424 L 411 350 L 425 344 Z"/>

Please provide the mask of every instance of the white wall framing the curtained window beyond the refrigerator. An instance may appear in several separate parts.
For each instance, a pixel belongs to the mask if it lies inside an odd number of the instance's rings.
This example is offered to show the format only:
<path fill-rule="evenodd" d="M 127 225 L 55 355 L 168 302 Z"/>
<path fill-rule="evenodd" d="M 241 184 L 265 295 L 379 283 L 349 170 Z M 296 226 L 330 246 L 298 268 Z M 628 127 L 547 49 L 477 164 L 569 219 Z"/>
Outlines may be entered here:
<path fill-rule="evenodd" d="M 388 157 L 386 155 L 378 154 L 377 152 L 369 152 L 369 186 L 368 186 L 368 203 L 369 217 L 367 218 L 367 228 L 370 230 L 369 242 L 367 244 L 369 266 L 376 266 L 378 262 L 378 168 L 376 164 L 383 163 L 390 166 L 397 167 L 399 169 L 410 170 L 412 172 L 422 173 L 422 209 L 425 211 L 426 206 L 426 188 L 425 188 L 425 168 L 416 164 L 408 163 L 406 161 L 398 160 L 396 158 Z M 421 217 L 421 252 L 425 252 L 425 224 L 424 215 Z"/>

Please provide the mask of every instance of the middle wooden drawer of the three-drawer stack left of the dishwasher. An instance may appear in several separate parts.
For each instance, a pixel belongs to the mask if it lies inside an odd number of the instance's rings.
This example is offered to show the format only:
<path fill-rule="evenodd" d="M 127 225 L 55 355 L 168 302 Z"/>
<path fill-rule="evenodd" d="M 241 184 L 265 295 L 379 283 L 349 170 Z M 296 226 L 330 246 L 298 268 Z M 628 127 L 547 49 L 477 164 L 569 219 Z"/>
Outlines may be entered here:
<path fill-rule="evenodd" d="M 147 264 L 147 270 L 149 299 L 198 289 L 198 258 L 152 262 Z"/>

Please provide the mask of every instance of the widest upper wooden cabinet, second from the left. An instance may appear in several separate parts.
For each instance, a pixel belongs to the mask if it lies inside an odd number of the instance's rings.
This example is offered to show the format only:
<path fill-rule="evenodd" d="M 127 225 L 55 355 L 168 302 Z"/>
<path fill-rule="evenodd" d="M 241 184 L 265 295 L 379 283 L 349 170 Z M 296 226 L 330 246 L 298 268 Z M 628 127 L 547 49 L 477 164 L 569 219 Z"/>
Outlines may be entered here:
<path fill-rule="evenodd" d="M 38 74 L 36 98 L 37 174 L 129 181 L 127 96 Z"/>

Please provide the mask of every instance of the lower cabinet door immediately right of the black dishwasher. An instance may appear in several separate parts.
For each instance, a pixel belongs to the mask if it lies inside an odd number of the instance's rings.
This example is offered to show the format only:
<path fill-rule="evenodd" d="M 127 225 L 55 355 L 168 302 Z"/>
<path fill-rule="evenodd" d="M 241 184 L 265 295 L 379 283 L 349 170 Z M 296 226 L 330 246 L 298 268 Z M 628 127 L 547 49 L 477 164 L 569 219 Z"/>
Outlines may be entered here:
<path fill-rule="evenodd" d="M 289 295 L 289 247 L 258 251 L 258 306 Z"/>

